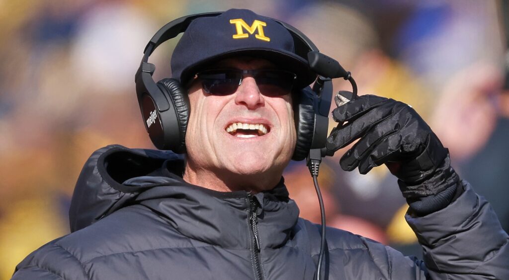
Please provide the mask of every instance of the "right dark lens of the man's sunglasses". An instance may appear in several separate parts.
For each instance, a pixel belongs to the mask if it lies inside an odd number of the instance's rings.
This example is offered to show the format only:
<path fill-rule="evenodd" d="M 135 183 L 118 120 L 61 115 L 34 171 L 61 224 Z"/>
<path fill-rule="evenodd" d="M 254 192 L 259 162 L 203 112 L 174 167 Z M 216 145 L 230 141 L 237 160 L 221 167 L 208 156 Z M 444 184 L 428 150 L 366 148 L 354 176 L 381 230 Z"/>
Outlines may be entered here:
<path fill-rule="evenodd" d="M 279 70 L 261 70 L 254 79 L 265 96 L 283 96 L 292 92 L 295 74 Z"/>

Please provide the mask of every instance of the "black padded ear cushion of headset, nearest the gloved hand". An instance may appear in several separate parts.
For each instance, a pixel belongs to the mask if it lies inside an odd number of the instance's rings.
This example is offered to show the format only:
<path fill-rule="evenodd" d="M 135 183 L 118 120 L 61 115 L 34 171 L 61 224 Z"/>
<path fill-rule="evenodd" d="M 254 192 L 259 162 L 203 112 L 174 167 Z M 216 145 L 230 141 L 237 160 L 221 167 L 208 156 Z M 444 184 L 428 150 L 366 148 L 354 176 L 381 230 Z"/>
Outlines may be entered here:
<path fill-rule="evenodd" d="M 315 110 L 313 105 L 299 103 L 294 109 L 297 143 L 293 152 L 293 160 L 307 157 L 315 132 Z"/>

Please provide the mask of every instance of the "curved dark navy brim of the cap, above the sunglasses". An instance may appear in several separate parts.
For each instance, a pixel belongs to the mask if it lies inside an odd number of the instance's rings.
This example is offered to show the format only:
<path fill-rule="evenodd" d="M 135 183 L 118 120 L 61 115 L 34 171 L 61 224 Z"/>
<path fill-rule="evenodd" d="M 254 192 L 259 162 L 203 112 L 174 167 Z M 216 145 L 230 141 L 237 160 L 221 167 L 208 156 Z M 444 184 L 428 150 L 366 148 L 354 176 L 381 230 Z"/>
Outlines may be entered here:
<path fill-rule="evenodd" d="M 180 75 L 180 81 L 181 83 L 187 82 L 201 69 L 210 67 L 210 64 L 214 62 L 231 57 L 239 57 L 242 55 L 266 59 L 276 64 L 281 69 L 295 73 L 297 75 L 296 87 L 299 89 L 303 89 L 309 86 L 315 81 L 317 77 L 317 74 L 309 68 L 308 62 L 295 53 L 273 49 L 250 48 L 217 54 L 200 61 L 200 63 L 190 65 L 182 71 L 182 74 Z"/>

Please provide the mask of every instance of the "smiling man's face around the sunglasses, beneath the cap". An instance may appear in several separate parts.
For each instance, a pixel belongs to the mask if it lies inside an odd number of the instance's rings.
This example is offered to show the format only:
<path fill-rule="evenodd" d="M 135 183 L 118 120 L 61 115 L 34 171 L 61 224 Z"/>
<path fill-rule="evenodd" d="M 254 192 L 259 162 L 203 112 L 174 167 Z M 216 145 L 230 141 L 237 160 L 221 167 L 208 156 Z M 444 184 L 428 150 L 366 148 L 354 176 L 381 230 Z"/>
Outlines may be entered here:
<path fill-rule="evenodd" d="M 274 69 L 259 59 L 226 59 L 214 68 Z M 291 94 L 267 97 L 253 77 L 244 76 L 231 95 L 209 95 L 195 80 L 189 90 L 186 133 L 188 164 L 221 176 L 281 176 L 296 142 Z M 240 124 L 239 124 L 240 123 Z M 247 125 L 253 130 L 244 128 Z M 258 128 L 258 129 L 257 129 Z M 254 135 L 254 136 L 253 136 Z"/>

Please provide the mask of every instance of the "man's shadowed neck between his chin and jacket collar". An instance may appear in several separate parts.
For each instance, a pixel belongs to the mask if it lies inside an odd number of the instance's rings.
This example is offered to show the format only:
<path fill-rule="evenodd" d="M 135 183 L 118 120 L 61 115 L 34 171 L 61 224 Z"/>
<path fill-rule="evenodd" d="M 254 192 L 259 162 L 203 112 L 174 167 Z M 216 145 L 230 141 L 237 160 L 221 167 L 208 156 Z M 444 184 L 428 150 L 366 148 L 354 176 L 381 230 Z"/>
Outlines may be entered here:
<path fill-rule="evenodd" d="M 279 183 L 282 176 L 281 172 L 273 174 L 235 174 L 225 171 L 213 171 L 196 168 L 187 162 L 185 166 L 184 181 L 216 191 L 237 191 L 245 190 L 258 193 L 264 190 L 272 189 Z"/>

